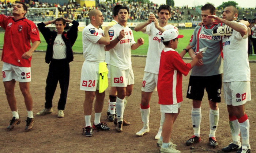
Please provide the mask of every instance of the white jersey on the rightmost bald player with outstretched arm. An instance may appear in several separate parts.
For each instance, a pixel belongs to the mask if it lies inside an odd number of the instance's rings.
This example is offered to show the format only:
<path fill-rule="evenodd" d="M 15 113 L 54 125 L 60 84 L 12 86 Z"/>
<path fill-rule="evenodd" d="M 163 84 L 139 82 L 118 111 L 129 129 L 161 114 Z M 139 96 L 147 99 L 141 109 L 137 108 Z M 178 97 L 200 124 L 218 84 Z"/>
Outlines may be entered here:
<path fill-rule="evenodd" d="M 222 42 L 223 82 L 251 81 L 247 53 L 248 34 L 242 37 L 239 32 L 233 30 L 232 35 L 223 37 Z"/>

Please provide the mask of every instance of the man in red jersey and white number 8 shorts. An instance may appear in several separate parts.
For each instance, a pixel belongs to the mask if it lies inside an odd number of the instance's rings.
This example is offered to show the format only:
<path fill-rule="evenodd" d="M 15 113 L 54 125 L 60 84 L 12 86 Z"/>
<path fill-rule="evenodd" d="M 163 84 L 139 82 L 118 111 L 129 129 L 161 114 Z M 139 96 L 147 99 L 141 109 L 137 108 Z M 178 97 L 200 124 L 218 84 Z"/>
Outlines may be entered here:
<path fill-rule="evenodd" d="M 25 15 L 27 6 L 17 2 L 12 9 L 13 17 L 0 15 L 0 26 L 4 28 L 4 46 L 1 56 L 3 63 L 3 82 L 8 104 L 12 111 L 12 119 L 7 129 L 13 129 L 20 123 L 16 98 L 14 96 L 15 82 L 19 81 L 27 107 L 27 120 L 25 130 L 34 125 L 33 101 L 29 92 L 31 81 L 30 61 L 31 55 L 40 43 L 39 33 L 35 24 L 27 20 Z M 30 40 L 33 43 L 30 46 Z"/>

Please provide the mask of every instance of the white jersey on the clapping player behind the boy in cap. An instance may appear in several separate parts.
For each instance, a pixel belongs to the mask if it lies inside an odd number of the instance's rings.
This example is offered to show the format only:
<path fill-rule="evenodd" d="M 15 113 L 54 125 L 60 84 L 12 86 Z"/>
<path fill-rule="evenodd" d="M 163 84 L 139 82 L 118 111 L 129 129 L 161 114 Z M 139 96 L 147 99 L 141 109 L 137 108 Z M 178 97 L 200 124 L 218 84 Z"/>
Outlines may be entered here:
<path fill-rule="evenodd" d="M 178 29 L 173 25 L 167 24 L 163 27 L 165 30 L 169 29 Z M 151 72 L 154 74 L 158 74 L 159 64 L 160 64 L 160 55 L 165 47 L 161 40 L 162 32 L 160 32 L 157 28 L 155 28 L 155 24 L 151 23 L 146 26 L 146 31 L 143 32 L 148 35 L 148 50 L 147 50 L 147 59 L 145 72 Z"/>

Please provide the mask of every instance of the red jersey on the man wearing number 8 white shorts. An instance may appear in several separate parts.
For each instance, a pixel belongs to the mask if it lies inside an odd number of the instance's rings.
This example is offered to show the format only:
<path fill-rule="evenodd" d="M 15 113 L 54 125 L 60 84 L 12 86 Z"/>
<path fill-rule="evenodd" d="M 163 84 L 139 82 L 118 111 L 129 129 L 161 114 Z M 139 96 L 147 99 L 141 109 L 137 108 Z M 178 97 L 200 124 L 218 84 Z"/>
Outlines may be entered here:
<path fill-rule="evenodd" d="M 30 67 L 31 57 L 23 59 L 21 56 L 30 50 L 30 40 L 32 43 L 40 41 L 33 21 L 26 17 L 14 21 L 13 17 L 0 15 L 0 26 L 5 30 L 1 60 L 20 67 Z"/>

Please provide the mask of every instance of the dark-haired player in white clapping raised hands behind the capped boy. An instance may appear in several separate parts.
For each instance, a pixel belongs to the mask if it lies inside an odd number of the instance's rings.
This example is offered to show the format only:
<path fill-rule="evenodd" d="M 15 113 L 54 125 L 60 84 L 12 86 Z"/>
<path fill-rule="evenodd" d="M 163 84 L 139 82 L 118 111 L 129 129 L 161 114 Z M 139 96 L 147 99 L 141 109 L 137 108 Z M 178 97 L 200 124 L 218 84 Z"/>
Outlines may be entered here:
<path fill-rule="evenodd" d="M 143 136 L 144 133 L 149 132 L 149 114 L 150 114 L 150 98 L 153 91 L 157 87 L 157 78 L 159 71 L 160 55 L 163 50 L 163 43 L 161 40 L 162 32 L 169 29 L 177 29 L 173 25 L 167 24 L 171 17 L 171 8 L 168 5 L 161 5 L 158 8 L 158 19 L 154 14 L 150 14 L 147 21 L 138 24 L 134 30 L 142 31 L 148 35 L 148 51 L 145 66 L 145 73 L 142 82 L 142 98 L 140 103 L 140 112 L 142 116 L 143 128 L 136 133 L 137 136 Z M 155 139 L 158 140 L 162 133 L 162 125 L 164 121 L 164 113 L 161 115 L 160 127 Z"/>

